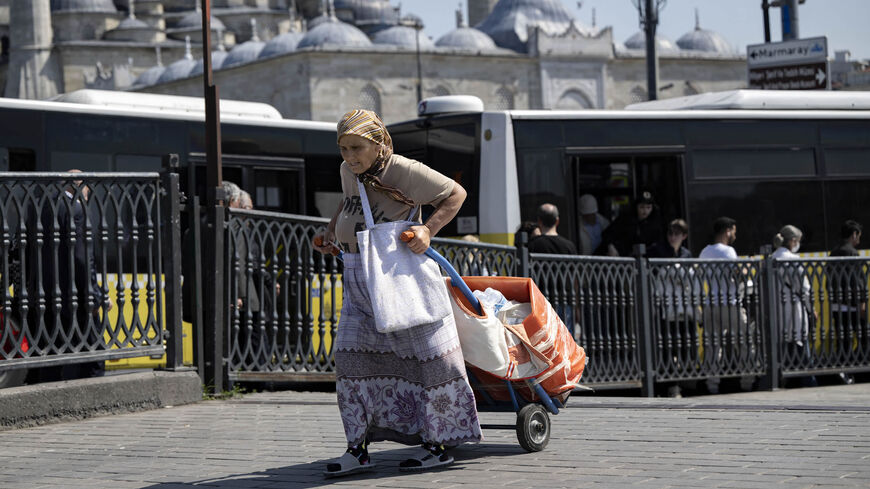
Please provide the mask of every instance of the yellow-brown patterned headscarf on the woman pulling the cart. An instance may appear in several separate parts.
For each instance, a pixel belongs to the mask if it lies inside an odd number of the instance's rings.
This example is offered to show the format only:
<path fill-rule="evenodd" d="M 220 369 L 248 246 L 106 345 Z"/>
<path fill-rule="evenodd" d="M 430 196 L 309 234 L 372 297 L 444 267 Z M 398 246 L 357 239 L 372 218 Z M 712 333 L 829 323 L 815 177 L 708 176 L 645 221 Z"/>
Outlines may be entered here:
<path fill-rule="evenodd" d="M 379 145 L 378 156 L 375 158 L 372 166 L 357 178 L 372 187 L 373 189 L 388 195 L 393 200 L 397 200 L 405 205 L 413 207 L 414 201 L 409 199 L 401 190 L 390 185 L 386 185 L 381 181 L 380 174 L 384 171 L 390 157 L 393 156 L 393 139 L 387 131 L 381 118 L 371 110 L 355 109 L 341 118 L 338 122 L 338 137 L 337 142 L 341 142 L 341 138 L 353 134 L 364 139 L 368 139 Z"/>

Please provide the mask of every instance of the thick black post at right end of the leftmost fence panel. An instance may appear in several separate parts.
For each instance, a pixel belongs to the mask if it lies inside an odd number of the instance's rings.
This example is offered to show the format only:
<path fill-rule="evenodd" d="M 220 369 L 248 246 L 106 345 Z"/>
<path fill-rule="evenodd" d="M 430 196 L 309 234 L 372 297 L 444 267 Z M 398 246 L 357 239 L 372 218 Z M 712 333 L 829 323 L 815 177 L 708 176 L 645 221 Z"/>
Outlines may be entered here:
<path fill-rule="evenodd" d="M 184 334 L 181 328 L 181 192 L 178 188 L 178 155 L 163 157 L 163 301 L 166 308 L 166 369 L 175 370 L 184 366 Z"/>

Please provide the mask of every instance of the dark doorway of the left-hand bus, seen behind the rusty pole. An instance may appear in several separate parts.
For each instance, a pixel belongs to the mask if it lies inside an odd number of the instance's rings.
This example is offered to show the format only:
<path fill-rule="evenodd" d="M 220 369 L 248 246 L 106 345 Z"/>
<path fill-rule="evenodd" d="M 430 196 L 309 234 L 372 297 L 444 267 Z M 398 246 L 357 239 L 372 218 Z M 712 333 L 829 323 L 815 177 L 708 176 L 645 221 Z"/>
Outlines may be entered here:
<path fill-rule="evenodd" d="M 192 182 L 185 187 L 205 203 L 205 155 L 191 154 Z M 286 214 L 305 214 L 305 162 L 302 158 L 223 155 L 223 179 L 251 194 L 254 209 Z"/>

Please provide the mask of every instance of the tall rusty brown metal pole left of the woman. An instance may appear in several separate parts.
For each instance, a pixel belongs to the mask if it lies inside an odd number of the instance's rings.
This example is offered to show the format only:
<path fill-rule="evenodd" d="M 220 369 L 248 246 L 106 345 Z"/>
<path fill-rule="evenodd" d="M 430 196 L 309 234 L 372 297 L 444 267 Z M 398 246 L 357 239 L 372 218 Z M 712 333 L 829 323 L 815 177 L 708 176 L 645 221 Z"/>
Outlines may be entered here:
<path fill-rule="evenodd" d="M 205 93 L 206 195 L 208 226 L 203 262 L 205 284 L 205 384 L 213 392 L 224 387 L 224 304 L 223 300 L 223 222 L 224 195 L 221 189 L 220 92 L 214 84 L 211 65 L 211 2 L 202 0 L 203 88 Z"/>

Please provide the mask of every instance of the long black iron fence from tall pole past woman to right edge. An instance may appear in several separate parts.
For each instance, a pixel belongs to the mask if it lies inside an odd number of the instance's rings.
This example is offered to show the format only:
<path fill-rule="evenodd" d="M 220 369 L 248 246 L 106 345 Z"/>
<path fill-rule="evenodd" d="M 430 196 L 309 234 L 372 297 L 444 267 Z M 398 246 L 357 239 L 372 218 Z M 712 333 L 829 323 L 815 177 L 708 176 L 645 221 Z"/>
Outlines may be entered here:
<path fill-rule="evenodd" d="M 309 244 L 325 223 L 230 211 L 230 380 L 333 378 L 341 263 Z M 866 315 L 856 312 L 867 301 L 867 259 L 774 264 L 530 255 L 450 239 L 435 239 L 433 247 L 461 274 L 534 279 L 586 349 L 584 383 L 598 388 L 641 387 L 652 395 L 656 384 L 676 381 L 761 378 L 759 385 L 775 386 L 780 375 L 870 370 Z M 777 277 L 795 273 L 813 284 L 815 308 L 825 312 L 808 331 L 813 348 L 800 358 L 787 346 L 792 330 L 775 319 L 789 303 Z"/>

